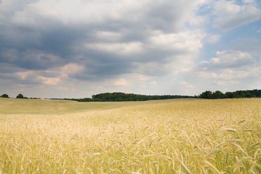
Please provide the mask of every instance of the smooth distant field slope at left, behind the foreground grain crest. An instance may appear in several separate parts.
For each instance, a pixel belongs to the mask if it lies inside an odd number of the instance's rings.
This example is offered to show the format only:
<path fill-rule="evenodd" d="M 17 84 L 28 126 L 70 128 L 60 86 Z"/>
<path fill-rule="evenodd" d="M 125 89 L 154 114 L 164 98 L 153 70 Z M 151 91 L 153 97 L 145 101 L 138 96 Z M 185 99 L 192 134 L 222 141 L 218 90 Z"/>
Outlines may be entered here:
<path fill-rule="evenodd" d="M 166 99 L 149 101 L 114 101 L 114 102 L 77 102 L 69 100 L 51 99 L 17 99 L 0 97 L 0 114 L 66 114 L 85 112 L 90 110 L 104 110 L 125 106 L 135 106 L 151 103 L 169 103 L 179 101 L 191 101 L 187 99 Z"/>

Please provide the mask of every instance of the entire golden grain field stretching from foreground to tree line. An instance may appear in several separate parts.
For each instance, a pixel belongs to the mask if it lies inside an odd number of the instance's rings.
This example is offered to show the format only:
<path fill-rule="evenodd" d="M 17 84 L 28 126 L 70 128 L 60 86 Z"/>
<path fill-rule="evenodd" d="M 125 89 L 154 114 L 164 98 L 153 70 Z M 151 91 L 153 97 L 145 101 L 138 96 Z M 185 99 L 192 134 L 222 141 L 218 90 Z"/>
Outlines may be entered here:
<path fill-rule="evenodd" d="M 2 174 L 261 174 L 260 98 L 0 102 Z"/>

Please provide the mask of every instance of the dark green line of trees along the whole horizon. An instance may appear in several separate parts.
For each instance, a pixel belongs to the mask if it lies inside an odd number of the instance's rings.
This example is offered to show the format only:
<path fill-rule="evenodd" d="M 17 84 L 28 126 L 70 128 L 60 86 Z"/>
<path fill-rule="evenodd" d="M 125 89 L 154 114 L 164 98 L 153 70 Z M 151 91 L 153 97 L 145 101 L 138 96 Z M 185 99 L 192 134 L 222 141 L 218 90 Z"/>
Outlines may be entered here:
<path fill-rule="evenodd" d="M 7 94 L 2 94 L 0 97 L 8 98 Z M 217 90 L 212 92 L 207 90 L 199 95 L 188 96 L 188 95 L 141 95 L 133 93 L 123 92 L 112 92 L 112 93 L 100 93 L 92 95 L 91 98 L 51 98 L 51 99 L 62 99 L 62 100 L 73 100 L 79 102 L 88 101 L 145 101 L 145 100 L 159 100 L 159 99 L 172 99 L 172 98 L 206 98 L 206 99 L 221 99 L 221 98 L 252 98 L 261 97 L 261 89 L 254 90 L 237 90 L 234 92 L 222 93 Z M 27 98 L 22 94 L 18 94 L 16 98 Z M 31 99 L 37 99 L 32 98 Z"/>

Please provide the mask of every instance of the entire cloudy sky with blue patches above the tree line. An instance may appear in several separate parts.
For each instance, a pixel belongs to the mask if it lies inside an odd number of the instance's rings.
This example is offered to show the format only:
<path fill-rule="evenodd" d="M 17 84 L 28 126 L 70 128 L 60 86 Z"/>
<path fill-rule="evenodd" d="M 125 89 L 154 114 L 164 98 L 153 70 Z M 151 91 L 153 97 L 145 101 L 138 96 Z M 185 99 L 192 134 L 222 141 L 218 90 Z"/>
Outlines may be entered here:
<path fill-rule="evenodd" d="M 261 0 L 0 0 L 0 94 L 261 89 Z"/>

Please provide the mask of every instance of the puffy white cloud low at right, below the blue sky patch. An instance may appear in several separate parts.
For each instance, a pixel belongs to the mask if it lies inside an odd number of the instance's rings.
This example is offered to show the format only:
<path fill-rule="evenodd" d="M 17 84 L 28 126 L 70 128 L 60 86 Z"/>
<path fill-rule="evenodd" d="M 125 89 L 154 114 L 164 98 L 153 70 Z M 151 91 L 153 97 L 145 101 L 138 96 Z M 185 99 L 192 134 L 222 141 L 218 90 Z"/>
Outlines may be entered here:
<path fill-rule="evenodd" d="M 235 85 L 244 79 L 259 79 L 261 76 L 261 62 L 248 52 L 217 51 L 216 56 L 194 68 L 197 77 L 212 79 L 218 85 Z"/>

